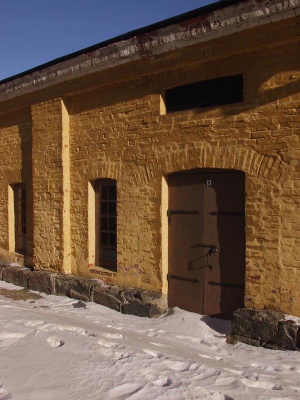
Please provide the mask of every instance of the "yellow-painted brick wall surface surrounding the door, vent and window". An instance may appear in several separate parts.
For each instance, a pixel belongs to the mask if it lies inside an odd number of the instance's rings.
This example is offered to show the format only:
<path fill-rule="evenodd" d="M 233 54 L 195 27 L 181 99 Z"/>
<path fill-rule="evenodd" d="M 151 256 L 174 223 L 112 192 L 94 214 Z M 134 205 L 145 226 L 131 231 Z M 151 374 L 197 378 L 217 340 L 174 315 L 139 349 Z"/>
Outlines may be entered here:
<path fill-rule="evenodd" d="M 85 88 L 78 80 L 61 84 L 56 96 L 43 92 L 31 106 L 35 267 L 165 291 L 162 177 L 188 168 L 240 169 L 245 305 L 300 316 L 298 19 L 108 69 L 82 79 Z M 161 114 L 166 88 L 236 73 L 243 74 L 242 103 Z M 15 137 L 11 158 L 18 154 L 20 170 L 20 123 L 11 115 L 0 140 Z M 0 171 L 5 179 L 7 170 Z M 90 254 L 89 182 L 106 177 L 117 180 L 116 273 L 94 266 Z"/>

